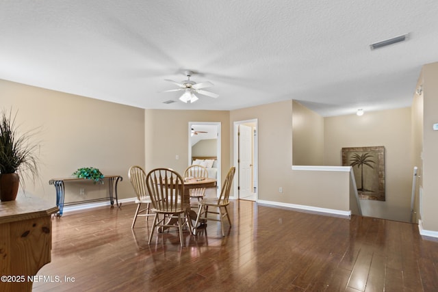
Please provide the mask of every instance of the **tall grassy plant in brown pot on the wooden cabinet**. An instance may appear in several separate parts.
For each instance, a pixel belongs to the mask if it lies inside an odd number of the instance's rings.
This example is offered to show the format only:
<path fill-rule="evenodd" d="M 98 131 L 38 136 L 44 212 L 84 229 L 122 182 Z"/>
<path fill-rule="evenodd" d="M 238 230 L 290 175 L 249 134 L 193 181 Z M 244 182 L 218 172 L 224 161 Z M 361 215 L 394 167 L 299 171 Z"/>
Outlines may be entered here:
<path fill-rule="evenodd" d="M 16 113 L 17 114 L 17 113 Z M 0 114 L 0 200 L 16 199 L 21 174 L 34 180 L 38 177 L 39 144 L 32 143 L 33 131 L 20 133 L 15 124 L 16 114 Z"/>

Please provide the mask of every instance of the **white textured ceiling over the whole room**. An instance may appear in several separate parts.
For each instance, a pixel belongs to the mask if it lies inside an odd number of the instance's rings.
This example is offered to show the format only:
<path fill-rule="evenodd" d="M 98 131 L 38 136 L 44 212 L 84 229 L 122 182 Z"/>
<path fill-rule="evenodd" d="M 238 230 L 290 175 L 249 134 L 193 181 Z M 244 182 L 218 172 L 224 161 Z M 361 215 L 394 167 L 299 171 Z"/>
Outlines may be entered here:
<path fill-rule="evenodd" d="M 437 61 L 436 0 L 0 1 L 0 79 L 142 108 L 409 107 Z M 220 96 L 164 104 L 188 69 Z"/>

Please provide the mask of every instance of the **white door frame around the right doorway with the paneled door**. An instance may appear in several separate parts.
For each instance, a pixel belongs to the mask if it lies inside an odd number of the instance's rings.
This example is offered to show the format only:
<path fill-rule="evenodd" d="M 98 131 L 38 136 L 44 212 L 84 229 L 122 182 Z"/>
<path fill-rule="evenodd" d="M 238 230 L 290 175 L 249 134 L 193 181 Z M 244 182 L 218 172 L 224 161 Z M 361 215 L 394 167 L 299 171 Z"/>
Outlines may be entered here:
<path fill-rule="evenodd" d="M 257 182 L 256 191 L 255 191 L 255 201 L 259 199 L 259 158 L 258 158 L 258 149 L 259 149 L 259 122 L 257 118 L 251 119 L 251 120 L 240 120 L 237 122 L 234 122 L 234 158 L 233 158 L 233 165 L 235 165 L 235 178 L 233 183 L 233 198 L 239 199 L 240 198 L 240 192 L 239 192 L 239 126 L 240 124 L 248 124 L 248 123 L 255 123 L 255 130 L 256 135 L 254 135 L 254 152 L 253 152 L 253 172 L 254 172 L 254 181 Z"/>

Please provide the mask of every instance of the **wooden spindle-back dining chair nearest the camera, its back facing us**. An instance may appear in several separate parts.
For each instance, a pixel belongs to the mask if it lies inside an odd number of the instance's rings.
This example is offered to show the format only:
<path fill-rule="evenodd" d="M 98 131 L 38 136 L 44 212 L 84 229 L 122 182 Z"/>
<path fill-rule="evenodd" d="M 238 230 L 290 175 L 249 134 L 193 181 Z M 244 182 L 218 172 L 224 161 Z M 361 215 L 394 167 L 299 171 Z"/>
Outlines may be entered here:
<path fill-rule="evenodd" d="M 146 176 L 146 186 L 152 200 L 151 211 L 155 213 L 148 243 L 151 244 L 156 228 L 177 228 L 179 241 L 181 246 L 184 246 L 183 227 L 188 226 L 192 234 L 192 222 L 188 215 L 190 204 L 184 200 L 182 176 L 170 168 L 155 168 Z M 159 215 L 163 217 L 160 219 Z"/>

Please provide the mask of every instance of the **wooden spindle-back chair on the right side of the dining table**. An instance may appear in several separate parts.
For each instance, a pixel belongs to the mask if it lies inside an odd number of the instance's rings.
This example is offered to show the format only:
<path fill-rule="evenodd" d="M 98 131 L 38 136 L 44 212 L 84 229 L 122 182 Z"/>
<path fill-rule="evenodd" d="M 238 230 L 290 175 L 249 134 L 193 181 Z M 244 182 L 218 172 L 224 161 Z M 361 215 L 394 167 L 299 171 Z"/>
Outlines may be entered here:
<path fill-rule="evenodd" d="M 227 177 L 225 178 L 225 181 L 222 184 L 222 189 L 220 191 L 219 198 L 203 198 L 201 201 L 199 201 L 198 215 L 196 216 L 196 223 L 194 224 L 195 226 L 194 235 L 196 235 L 196 226 L 198 226 L 198 222 L 200 220 L 205 220 L 205 222 L 207 222 L 208 220 L 220 222 L 222 236 L 225 236 L 224 220 L 223 220 L 225 216 L 227 216 L 228 223 L 231 227 L 231 220 L 227 206 L 230 203 L 229 196 L 230 196 L 231 184 L 233 183 L 234 173 L 235 173 L 235 167 L 233 166 L 232 168 L 230 168 Z M 214 211 L 211 211 L 212 208 L 214 208 Z M 214 214 L 214 217 L 211 217 L 208 214 Z M 219 215 L 219 218 L 217 215 Z M 201 216 L 203 217 L 201 218 Z"/>

